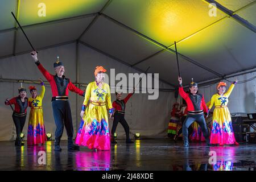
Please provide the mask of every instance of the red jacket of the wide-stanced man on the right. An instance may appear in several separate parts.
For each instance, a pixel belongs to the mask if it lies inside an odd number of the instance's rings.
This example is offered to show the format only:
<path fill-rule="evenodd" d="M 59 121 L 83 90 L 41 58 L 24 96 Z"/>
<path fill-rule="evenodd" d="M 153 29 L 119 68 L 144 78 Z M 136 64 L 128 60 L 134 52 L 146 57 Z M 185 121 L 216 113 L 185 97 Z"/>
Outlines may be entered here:
<path fill-rule="evenodd" d="M 196 94 L 196 96 L 201 100 L 199 103 L 191 100 L 191 97 L 193 97 L 192 94 L 185 93 L 182 86 L 179 87 L 179 94 L 187 102 L 188 111 L 196 111 L 200 109 L 204 110 L 204 113 L 208 113 L 208 109 L 204 101 L 204 96 L 202 94 Z"/>

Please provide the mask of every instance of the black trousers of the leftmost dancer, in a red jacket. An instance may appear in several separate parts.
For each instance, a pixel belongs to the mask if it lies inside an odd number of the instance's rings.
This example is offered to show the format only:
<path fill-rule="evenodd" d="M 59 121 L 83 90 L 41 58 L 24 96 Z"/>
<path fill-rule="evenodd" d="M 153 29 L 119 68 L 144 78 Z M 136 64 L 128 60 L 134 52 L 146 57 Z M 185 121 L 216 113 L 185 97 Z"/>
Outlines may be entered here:
<path fill-rule="evenodd" d="M 15 140 L 15 146 L 21 146 L 21 139 L 20 139 L 20 133 L 22 133 L 23 127 L 26 122 L 26 116 L 24 115 L 23 117 L 17 117 L 13 113 L 13 122 L 16 127 L 16 140 Z"/>

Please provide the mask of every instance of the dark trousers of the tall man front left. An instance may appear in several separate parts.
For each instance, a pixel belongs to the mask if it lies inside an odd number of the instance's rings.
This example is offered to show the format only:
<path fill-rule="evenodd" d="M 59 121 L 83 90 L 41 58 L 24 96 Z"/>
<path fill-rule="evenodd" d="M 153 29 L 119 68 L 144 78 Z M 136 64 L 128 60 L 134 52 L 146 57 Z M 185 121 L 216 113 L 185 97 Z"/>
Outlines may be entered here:
<path fill-rule="evenodd" d="M 60 138 L 62 137 L 64 126 L 67 131 L 68 142 L 71 143 L 74 129 L 69 101 L 52 101 L 52 109 L 56 125 L 55 145 L 59 145 L 60 143 Z"/>

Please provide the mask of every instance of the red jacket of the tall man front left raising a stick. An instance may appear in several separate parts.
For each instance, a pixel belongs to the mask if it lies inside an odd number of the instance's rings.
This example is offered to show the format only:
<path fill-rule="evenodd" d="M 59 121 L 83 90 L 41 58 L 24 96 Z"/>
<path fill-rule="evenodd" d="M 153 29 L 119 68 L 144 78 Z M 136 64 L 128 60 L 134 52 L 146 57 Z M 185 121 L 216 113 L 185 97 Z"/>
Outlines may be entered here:
<path fill-rule="evenodd" d="M 51 75 L 46 69 L 44 69 L 43 65 L 40 64 L 39 61 L 36 62 L 36 65 L 38 65 L 38 69 L 40 70 L 40 72 L 44 75 L 44 77 L 46 77 L 47 81 L 49 81 L 50 85 L 51 85 L 51 89 L 52 89 L 52 97 L 56 97 L 59 96 L 58 90 L 57 90 L 57 85 L 54 79 L 54 75 Z M 75 92 L 77 94 L 79 94 L 80 96 L 84 96 L 85 92 L 82 91 L 81 89 L 77 88 L 75 85 L 72 84 L 72 82 L 70 81 L 70 79 L 68 79 L 68 86 L 65 90 L 65 96 L 68 96 L 68 90 Z"/>

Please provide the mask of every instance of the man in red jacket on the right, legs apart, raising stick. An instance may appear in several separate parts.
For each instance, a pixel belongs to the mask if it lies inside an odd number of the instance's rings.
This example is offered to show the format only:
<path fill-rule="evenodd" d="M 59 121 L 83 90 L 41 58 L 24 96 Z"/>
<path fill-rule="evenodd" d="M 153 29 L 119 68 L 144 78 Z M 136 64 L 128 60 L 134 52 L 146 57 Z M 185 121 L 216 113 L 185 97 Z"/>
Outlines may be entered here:
<path fill-rule="evenodd" d="M 203 135 L 207 145 L 210 145 L 209 140 L 209 132 L 207 129 L 207 125 L 204 119 L 204 114 L 208 117 L 208 108 L 204 101 L 204 96 L 202 94 L 197 93 L 197 83 L 191 82 L 189 86 L 190 93 L 185 93 L 182 87 L 182 78 L 179 77 L 179 94 L 180 96 L 187 102 L 187 118 L 185 119 L 182 126 L 182 134 L 184 139 L 184 147 L 188 147 L 188 127 L 196 121 L 199 123 L 201 130 L 203 131 Z"/>

